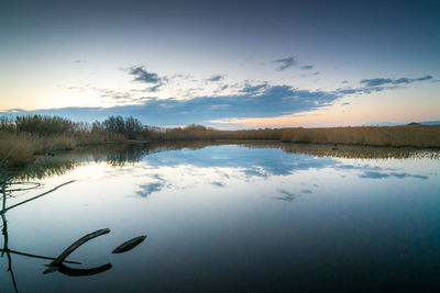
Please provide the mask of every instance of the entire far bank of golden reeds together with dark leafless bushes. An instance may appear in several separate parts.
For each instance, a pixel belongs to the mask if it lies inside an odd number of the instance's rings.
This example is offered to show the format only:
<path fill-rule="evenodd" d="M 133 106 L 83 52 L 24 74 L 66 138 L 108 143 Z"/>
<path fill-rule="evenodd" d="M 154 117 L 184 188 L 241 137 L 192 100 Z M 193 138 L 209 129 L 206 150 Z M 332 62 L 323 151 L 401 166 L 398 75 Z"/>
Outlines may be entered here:
<path fill-rule="evenodd" d="M 35 155 L 77 146 L 139 142 L 282 140 L 389 147 L 440 147 L 440 125 L 219 131 L 201 125 L 158 128 L 133 117 L 92 124 L 42 115 L 0 117 L 0 167 L 23 166 Z"/>

